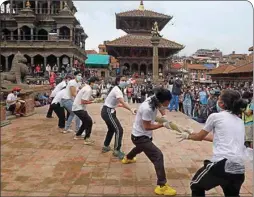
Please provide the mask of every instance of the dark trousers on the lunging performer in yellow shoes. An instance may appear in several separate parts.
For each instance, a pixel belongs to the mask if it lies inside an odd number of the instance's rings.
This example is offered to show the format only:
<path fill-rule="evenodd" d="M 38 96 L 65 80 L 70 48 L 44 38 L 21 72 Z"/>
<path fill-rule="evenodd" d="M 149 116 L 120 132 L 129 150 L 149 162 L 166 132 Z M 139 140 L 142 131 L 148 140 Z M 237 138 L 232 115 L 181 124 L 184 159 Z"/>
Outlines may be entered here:
<path fill-rule="evenodd" d="M 136 147 L 126 155 L 127 159 L 133 159 L 137 154 L 144 152 L 154 165 L 157 174 L 157 185 L 165 185 L 167 179 L 161 150 L 147 136 L 135 137 L 131 135 L 131 140 Z"/>

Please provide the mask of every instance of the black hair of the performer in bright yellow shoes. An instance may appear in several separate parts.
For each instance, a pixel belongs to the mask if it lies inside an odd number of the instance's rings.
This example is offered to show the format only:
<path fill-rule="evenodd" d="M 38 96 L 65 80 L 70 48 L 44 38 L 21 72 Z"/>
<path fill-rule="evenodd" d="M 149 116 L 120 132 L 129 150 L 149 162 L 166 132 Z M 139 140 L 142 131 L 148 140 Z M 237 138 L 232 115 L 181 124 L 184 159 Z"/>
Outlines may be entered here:
<path fill-rule="evenodd" d="M 160 103 L 163 103 L 165 101 L 170 101 L 172 98 L 172 95 L 169 90 L 164 88 L 156 88 L 154 89 L 155 95 L 151 97 L 151 100 L 149 101 L 149 106 L 154 111 Z"/>

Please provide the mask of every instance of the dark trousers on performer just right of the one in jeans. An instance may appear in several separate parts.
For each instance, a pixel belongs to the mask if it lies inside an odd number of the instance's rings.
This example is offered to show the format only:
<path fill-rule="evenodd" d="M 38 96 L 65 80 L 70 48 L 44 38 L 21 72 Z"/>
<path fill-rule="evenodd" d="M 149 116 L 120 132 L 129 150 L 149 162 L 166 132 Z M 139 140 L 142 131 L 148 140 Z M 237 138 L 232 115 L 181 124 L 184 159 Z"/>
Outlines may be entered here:
<path fill-rule="evenodd" d="M 76 133 L 76 136 L 82 135 L 84 131 L 86 131 L 86 135 L 84 139 L 89 138 L 92 132 L 92 127 L 93 127 L 93 120 L 91 116 L 87 113 L 87 111 L 84 110 L 78 110 L 78 111 L 73 111 L 73 113 L 79 117 L 79 119 L 82 121 L 82 125 L 79 128 L 78 132 Z"/>

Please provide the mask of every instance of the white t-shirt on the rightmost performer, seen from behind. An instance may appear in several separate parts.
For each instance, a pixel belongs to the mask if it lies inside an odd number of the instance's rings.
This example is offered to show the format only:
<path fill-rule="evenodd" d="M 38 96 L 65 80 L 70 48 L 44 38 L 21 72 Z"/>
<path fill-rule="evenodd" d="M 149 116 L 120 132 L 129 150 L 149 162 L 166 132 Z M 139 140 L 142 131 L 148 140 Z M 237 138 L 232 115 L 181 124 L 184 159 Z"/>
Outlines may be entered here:
<path fill-rule="evenodd" d="M 245 128 L 242 119 L 227 111 L 211 114 L 204 130 L 213 132 L 212 162 L 244 157 Z"/>

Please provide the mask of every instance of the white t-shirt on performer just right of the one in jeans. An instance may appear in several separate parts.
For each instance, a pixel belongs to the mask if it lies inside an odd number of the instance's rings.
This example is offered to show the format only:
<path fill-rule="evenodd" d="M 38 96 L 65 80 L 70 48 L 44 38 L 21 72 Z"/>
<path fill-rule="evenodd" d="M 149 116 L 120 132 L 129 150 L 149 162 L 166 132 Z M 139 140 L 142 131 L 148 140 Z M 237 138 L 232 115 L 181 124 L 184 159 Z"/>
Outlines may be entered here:
<path fill-rule="evenodd" d="M 81 100 L 89 101 L 92 96 L 92 88 L 89 85 L 85 85 L 81 90 L 79 90 L 77 96 L 74 99 L 72 105 L 72 111 L 84 110 L 86 111 L 86 105 L 81 104 Z"/>

